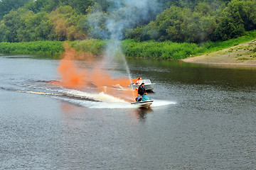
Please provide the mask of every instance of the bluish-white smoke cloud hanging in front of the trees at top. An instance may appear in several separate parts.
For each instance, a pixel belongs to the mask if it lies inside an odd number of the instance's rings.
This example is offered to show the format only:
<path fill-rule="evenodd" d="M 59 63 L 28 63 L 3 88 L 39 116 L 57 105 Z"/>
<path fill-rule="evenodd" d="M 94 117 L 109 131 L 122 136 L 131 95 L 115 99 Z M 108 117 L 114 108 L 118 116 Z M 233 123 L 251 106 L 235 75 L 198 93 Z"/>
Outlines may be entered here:
<path fill-rule="evenodd" d="M 149 23 L 161 8 L 159 0 L 106 0 L 96 4 L 87 16 L 93 28 L 91 35 L 122 40 L 125 29 Z"/>

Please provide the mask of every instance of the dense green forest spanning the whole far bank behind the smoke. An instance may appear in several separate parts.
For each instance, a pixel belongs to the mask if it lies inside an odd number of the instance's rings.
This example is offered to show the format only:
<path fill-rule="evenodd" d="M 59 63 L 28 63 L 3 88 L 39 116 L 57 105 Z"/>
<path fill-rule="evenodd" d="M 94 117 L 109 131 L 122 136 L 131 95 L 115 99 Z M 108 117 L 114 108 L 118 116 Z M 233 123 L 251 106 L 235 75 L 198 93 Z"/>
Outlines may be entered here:
<path fill-rule="evenodd" d="M 1 0 L 0 42 L 110 39 L 107 18 L 122 21 L 126 13 L 118 8 L 127 7 L 128 1 Z M 201 43 L 229 40 L 256 30 L 255 0 L 147 2 L 149 13 L 119 23 L 124 25 L 120 40 Z M 136 8 L 132 10 L 136 15 Z"/>

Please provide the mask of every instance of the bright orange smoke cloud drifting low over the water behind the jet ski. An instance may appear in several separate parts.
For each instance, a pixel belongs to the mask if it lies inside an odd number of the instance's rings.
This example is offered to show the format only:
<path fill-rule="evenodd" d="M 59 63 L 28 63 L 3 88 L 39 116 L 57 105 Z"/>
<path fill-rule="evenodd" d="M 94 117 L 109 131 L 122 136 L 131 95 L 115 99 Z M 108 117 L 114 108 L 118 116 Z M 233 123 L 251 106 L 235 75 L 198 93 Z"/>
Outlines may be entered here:
<path fill-rule="evenodd" d="M 134 101 L 134 91 L 126 88 L 130 84 L 130 79 L 124 77 L 122 79 L 114 79 L 105 70 L 101 69 L 99 64 L 93 64 L 96 56 L 85 52 L 77 52 L 65 43 L 65 53 L 63 59 L 60 60 L 58 72 L 62 77 L 61 86 L 68 88 L 87 89 L 90 86 L 95 87 L 97 92 L 103 91 L 117 98 L 127 101 Z M 85 61 L 90 64 L 92 70 L 78 67 L 75 62 L 77 60 Z"/>

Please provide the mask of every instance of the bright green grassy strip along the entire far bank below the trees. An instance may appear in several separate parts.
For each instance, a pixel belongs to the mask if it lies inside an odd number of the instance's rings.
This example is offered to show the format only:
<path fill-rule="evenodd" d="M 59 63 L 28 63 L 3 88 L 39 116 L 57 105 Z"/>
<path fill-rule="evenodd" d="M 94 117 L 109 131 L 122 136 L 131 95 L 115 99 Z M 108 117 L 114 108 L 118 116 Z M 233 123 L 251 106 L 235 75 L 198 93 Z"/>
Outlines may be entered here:
<path fill-rule="evenodd" d="M 223 42 L 205 42 L 200 45 L 195 43 L 156 42 L 123 40 L 122 51 L 127 57 L 145 57 L 161 60 L 181 60 L 186 57 L 202 55 L 208 52 L 223 50 L 228 47 L 255 40 L 256 30 L 247 35 Z M 68 42 L 77 51 L 89 52 L 92 55 L 102 55 L 107 45 L 107 40 L 75 40 Z M 36 42 L 0 42 L 1 53 L 13 54 L 46 54 L 59 55 L 64 52 L 63 42 L 36 41 Z"/>

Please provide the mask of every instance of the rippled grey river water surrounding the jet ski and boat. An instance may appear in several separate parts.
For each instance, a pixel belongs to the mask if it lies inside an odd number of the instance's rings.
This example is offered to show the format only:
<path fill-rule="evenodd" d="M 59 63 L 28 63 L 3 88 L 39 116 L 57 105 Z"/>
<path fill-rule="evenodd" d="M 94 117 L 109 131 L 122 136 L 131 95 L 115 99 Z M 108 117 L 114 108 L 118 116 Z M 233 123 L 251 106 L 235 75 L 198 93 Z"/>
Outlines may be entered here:
<path fill-rule="evenodd" d="M 255 169 L 255 68 L 129 59 L 156 83 L 142 109 L 49 86 L 58 63 L 0 56 L 0 169 Z"/>

